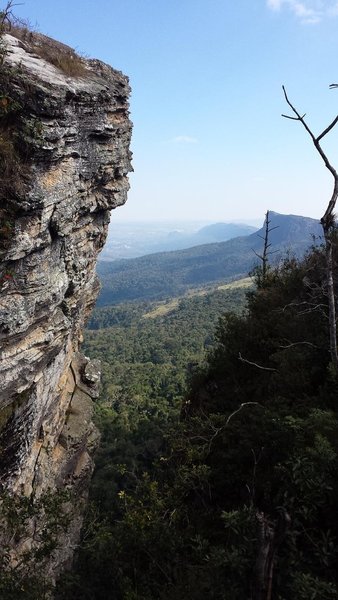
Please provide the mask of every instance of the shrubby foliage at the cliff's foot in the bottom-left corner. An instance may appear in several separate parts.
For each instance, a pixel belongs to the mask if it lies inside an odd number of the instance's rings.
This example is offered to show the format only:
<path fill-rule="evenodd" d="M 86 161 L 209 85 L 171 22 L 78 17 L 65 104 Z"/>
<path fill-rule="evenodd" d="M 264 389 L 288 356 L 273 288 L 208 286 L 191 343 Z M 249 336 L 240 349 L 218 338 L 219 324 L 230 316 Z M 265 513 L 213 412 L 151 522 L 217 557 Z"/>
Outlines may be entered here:
<path fill-rule="evenodd" d="M 0 496 L 0 597 L 3 600 L 47 600 L 51 584 L 46 567 L 71 523 L 66 492 L 39 498 Z"/>

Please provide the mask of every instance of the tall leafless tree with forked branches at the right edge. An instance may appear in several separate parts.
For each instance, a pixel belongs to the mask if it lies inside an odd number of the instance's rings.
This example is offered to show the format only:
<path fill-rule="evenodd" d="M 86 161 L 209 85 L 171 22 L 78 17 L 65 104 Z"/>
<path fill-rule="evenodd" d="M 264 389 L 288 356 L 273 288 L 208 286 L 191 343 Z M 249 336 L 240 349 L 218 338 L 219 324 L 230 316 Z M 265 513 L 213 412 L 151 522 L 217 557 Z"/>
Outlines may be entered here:
<path fill-rule="evenodd" d="M 331 87 L 335 87 L 333 84 Z M 309 136 L 312 139 L 312 142 L 322 158 L 325 167 L 330 171 L 333 177 L 333 191 L 329 203 L 327 205 L 326 211 L 322 216 L 320 222 L 323 227 L 324 239 L 325 239 L 325 258 L 326 258 L 326 283 L 327 283 L 327 295 L 328 295 L 328 307 L 329 307 L 329 331 L 330 331 L 330 352 L 331 352 L 331 360 L 332 364 L 335 367 L 336 372 L 338 372 L 338 351 L 337 351 L 337 325 L 336 325 L 336 301 L 335 301 L 335 292 L 334 292 L 334 281 L 333 281 L 333 237 L 335 230 L 335 215 L 334 209 L 336 206 L 336 201 L 338 198 L 338 173 L 336 169 L 332 166 L 329 161 L 327 155 L 320 145 L 320 141 L 326 136 L 338 123 L 338 115 L 333 119 L 332 123 L 322 131 L 320 135 L 317 137 L 311 131 L 310 127 L 304 120 L 305 114 L 301 115 L 296 108 L 291 104 L 285 87 L 283 86 L 284 97 L 287 104 L 290 106 L 293 114 L 295 116 L 290 115 L 282 115 L 286 119 L 292 119 L 293 121 L 299 121 L 303 127 L 308 132 Z"/>

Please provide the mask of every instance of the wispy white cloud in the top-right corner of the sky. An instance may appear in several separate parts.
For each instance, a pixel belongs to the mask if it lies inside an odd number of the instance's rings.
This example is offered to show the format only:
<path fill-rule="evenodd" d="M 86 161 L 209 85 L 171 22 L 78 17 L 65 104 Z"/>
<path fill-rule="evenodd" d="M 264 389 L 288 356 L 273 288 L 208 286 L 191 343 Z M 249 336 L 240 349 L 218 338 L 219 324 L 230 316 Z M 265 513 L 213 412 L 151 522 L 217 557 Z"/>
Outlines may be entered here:
<path fill-rule="evenodd" d="M 326 17 L 338 16 L 337 0 L 266 0 L 267 7 L 274 11 L 290 10 L 302 23 L 319 23 Z"/>

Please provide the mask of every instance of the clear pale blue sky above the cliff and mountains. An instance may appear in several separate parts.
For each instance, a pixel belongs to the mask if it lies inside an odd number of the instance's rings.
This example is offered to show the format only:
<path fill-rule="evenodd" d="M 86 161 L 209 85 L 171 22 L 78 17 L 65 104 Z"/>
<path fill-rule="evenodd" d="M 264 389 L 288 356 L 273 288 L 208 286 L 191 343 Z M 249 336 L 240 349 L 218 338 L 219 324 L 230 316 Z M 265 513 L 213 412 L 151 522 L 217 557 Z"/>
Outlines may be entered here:
<path fill-rule="evenodd" d="M 338 114 L 336 0 L 15 0 L 15 14 L 128 75 L 123 221 L 320 218 L 332 176 L 315 135 Z M 0 0 L 0 6 L 4 0 Z M 322 140 L 338 168 L 338 125 Z"/>

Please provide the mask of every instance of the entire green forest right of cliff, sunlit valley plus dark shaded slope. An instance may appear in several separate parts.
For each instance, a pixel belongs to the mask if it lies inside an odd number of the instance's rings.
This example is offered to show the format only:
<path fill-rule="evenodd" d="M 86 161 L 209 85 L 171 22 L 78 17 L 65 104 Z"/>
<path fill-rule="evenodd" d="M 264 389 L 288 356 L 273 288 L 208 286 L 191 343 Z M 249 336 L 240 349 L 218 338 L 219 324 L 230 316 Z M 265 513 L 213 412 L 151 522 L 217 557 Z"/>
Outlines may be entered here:
<path fill-rule="evenodd" d="M 85 351 L 103 361 L 102 441 L 59 600 L 337 598 L 321 248 L 246 290 L 97 309 Z"/>

